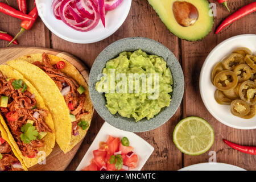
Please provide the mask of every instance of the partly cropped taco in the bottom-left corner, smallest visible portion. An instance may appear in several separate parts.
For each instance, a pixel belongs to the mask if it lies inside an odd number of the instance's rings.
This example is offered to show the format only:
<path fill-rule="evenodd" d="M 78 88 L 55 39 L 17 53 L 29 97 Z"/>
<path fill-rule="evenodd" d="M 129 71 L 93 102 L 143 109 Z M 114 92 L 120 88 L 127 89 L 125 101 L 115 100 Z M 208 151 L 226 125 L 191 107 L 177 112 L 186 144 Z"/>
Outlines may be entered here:
<path fill-rule="evenodd" d="M 2 116 L 0 115 L 2 120 Z M 8 135 L 0 123 L 0 171 L 27 171 L 26 166 L 14 150 Z"/>

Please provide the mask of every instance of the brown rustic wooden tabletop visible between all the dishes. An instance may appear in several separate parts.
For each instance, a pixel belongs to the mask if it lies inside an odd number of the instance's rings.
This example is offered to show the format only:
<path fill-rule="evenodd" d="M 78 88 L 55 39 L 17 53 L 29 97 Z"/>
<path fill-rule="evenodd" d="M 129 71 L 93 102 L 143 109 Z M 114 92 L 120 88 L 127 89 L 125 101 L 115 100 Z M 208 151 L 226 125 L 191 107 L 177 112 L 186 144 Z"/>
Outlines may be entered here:
<path fill-rule="evenodd" d="M 125 1 L 125 0 L 124 0 Z M 0 0 L 4 2 L 4 0 Z M 9 1 L 16 7 L 16 1 Z M 32 9 L 34 0 L 28 1 L 29 10 Z M 217 2 L 211 0 L 210 2 Z M 229 0 L 231 13 L 254 0 Z M 222 5 L 217 5 L 217 17 L 214 18 L 214 27 L 220 24 L 221 20 L 228 16 L 228 11 Z M 256 146 L 256 130 L 237 130 L 223 125 L 210 115 L 205 108 L 199 92 L 199 75 L 201 66 L 208 53 L 223 40 L 240 34 L 256 33 L 256 13 L 247 15 L 225 28 L 218 35 L 214 31 L 201 41 L 187 42 L 172 35 L 159 19 L 152 7 L 146 0 L 133 0 L 130 13 L 125 23 L 109 38 L 93 44 L 75 44 L 67 42 L 52 34 L 44 26 L 40 18 L 36 20 L 35 26 L 24 32 L 18 39 L 19 46 L 36 46 L 58 49 L 69 52 L 79 57 L 88 68 L 92 67 L 97 55 L 116 40 L 131 36 L 143 36 L 157 40 L 174 52 L 183 67 L 185 76 L 185 93 L 183 102 L 174 117 L 158 129 L 138 133 L 139 136 L 147 140 L 155 151 L 148 159 L 143 170 L 177 170 L 191 164 L 208 162 L 209 151 L 217 152 L 217 162 L 233 164 L 247 170 L 256 170 L 256 156 L 247 155 L 226 146 L 222 138 L 226 138 L 236 143 Z M 8 31 L 10 35 L 15 35 L 20 30 L 20 20 L 10 16 L 0 14 L 0 30 Z M 0 47 L 6 47 L 7 42 L 0 41 Z M 208 152 L 199 156 L 189 156 L 182 154 L 172 142 L 174 127 L 180 119 L 196 115 L 206 119 L 212 125 L 215 133 L 213 146 Z M 103 119 L 95 112 L 92 125 L 79 149 L 75 158 L 69 164 L 67 170 L 74 170 L 80 160 L 93 142 L 100 130 Z"/>

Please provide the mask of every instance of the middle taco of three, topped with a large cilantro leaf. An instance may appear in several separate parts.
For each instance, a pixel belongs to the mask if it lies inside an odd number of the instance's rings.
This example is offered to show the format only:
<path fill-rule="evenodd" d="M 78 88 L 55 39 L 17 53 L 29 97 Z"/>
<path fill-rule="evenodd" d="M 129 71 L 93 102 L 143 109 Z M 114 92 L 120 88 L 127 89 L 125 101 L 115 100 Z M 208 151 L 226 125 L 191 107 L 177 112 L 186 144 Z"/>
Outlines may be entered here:
<path fill-rule="evenodd" d="M 48 156 L 55 145 L 51 114 L 42 97 L 18 71 L 0 65 L 1 124 L 26 167 Z"/>

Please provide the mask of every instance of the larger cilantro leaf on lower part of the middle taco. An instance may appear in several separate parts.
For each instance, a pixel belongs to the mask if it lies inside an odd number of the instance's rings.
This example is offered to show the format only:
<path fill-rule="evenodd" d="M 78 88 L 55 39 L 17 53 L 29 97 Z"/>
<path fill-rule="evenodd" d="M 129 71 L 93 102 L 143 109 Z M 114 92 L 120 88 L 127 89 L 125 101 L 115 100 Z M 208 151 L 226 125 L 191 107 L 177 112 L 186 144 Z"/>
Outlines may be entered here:
<path fill-rule="evenodd" d="M 24 143 L 30 143 L 31 140 L 36 140 L 36 137 L 38 137 L 38 130 L 35 129 L 35 126 L 33 126 L 31 123 L 26 123 L 26 125 L 23 125 L 20 129 L 23 134 L 20 135 L 20 139 Z"/>

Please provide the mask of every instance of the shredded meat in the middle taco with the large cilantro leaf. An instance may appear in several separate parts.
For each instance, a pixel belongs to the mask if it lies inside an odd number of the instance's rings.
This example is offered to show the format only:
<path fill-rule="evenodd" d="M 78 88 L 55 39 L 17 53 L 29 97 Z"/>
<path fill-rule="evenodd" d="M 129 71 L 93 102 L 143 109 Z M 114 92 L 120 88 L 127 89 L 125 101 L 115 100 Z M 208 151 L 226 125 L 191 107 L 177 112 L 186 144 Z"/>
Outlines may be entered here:
<path fill-rule="evenodd" d="M 34 121 L 33 125 L 39 133 L 46 131 L 53 133 L 44 121 L 44 117 L 48 115 L 48 111 L 39 108 L 34 109 L 36 106 L 34 95 L 27 90 L 22 92 L 21 88 L 18 90 L 14 89 L 12 85 L 13 81 L 14 79 L 7 81 L 6 77 L 0 72 L 0 94 L 1 96 L 9 97 L 7 107 L 0 107 L 0 112 L 5 117 L 10 111 L 18 113 L 18 119 L 16 119 L 16 121 L 8 121 L 6 119 L 6 123 L 9 126 L 11 134 L 18 144 L 22 155 L 34 156 L 38 152 L 36 148 L 43 147 L 44 143 L 39 139 L 32 140 L 28 144 L 24 143 L 20 139 L 20 135 L 22 134 L 20 129 L 23 125 L 26 125 L 27 120 L 30 119 Z M 33 117 L 33 114 L 36 111 L 39 113 L 38 118 Z"/>

